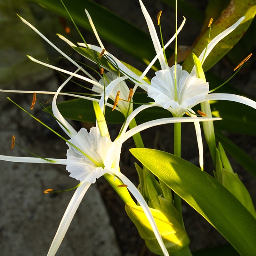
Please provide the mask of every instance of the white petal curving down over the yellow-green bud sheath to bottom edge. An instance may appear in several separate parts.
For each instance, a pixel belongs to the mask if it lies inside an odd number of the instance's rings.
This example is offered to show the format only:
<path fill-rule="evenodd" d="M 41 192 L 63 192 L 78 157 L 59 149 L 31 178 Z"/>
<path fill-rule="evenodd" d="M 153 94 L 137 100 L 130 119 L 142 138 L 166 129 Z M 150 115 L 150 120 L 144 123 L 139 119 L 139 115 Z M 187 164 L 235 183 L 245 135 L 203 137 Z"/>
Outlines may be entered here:
<path fill-rule="evenodd" d="M 164 242 L 162 240 L 162 237 L 159 233 L 159 230 L 156 226 L 156 222 L 154 220 L 154 217 L 152 215 L 152 213 L 149 210 L 148 204 L 146 203 L 145 199 L 143 198 L 143 196 L 140 194 L 140 191 L 133 185 L 133 183 L 126 177 L 124 176 L 124 174 L 122 174 L 121 172 L 119 172 L 117 174 L 118 178 L 120 178 L 120 180 L 122 180 L 122 182 L 127 185 L 127 189 L 132 193 L 132 195 L 136 198 L 136 200 L 139 202 L 141 208 L 143 209 L 145 215 L 148 218 L 148 221 L 154 231 L 154 234 L 156 236 L 156 239 L 164 253 L 165 256 L 169 256 L 169 253 L 164 245 Z"/>

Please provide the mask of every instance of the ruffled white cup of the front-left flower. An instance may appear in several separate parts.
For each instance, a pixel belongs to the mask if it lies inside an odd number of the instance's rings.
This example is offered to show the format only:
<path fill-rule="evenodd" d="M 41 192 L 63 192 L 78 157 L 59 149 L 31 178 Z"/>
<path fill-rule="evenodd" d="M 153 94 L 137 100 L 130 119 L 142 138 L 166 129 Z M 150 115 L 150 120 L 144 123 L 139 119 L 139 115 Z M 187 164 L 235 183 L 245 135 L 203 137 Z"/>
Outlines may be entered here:
<path fill-rule="evenodd" d="M 70 177 L 81 182 L 94 183 L 105 173 L 113 172 L 112 163 L 115 158 L 116 144 L 108 137 L 101 137 L 98 128 L 92 127 L 90 132 L 82 128 L 68 142 L 81 150 L 67 143 L 69 146 L 67 170 L 70 172 Z"/>

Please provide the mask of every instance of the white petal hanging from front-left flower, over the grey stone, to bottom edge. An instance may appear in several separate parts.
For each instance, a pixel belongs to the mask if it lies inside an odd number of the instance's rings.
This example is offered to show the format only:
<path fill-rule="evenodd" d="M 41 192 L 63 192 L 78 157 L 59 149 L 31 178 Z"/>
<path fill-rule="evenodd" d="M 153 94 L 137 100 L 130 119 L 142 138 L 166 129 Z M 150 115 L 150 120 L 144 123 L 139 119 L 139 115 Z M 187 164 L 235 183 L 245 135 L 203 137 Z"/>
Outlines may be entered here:
<path fill-rule="evenodd" d="M 91 183 L 84 182 L 84 183 L 81 183 L 81 185 L 76 189 L 76 192 L 72 196 L 68 204 L 68 207 L 62 217 L 62 220 L 60 221 L 59 228 L 53 238 L 53 241 L 47 253 L 47 256 L 54 256 L 56 254 L 64 236 L 66 235 L 68 227 L 76 213 L 76 210 L 90 186 L 91 186 Z"/>

